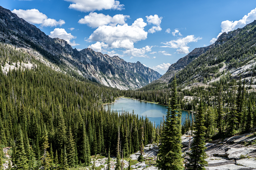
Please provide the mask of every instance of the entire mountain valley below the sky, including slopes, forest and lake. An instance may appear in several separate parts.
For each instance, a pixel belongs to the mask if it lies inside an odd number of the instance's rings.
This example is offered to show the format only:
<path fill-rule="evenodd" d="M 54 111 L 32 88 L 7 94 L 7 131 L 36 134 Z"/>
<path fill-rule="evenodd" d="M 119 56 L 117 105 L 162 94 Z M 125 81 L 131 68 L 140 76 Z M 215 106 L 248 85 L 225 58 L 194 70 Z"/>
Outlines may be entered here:
<path fill-rule="evenodd" d="M 255 168 L 255 20 L 163 76 L 73 49 L 3 7 L 0 41 L 5 169 Z"/>

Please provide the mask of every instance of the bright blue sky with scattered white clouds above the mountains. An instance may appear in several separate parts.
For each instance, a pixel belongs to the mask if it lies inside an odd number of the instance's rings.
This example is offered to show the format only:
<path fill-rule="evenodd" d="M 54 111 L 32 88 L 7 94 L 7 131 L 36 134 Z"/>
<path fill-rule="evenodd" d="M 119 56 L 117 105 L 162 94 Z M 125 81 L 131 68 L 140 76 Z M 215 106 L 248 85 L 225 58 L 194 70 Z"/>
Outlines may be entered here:
<path fill-rule="evenodd" d="M 117 55 L 164 74 L 194 48 L 256 20 L 255 0 L 0 0 L 72 48 Z"/>

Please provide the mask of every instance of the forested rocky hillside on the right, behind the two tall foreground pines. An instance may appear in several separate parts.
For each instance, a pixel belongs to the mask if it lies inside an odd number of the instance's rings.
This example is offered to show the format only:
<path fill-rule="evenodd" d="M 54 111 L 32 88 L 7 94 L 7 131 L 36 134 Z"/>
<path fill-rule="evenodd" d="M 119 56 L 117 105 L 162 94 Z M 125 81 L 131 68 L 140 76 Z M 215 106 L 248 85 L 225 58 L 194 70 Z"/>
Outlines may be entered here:
<path fill-rule="evenodd" d="M 256 127 L 255 30 L 256 21 L 223 33 L 214 47 L 175 75 L 182 109 L 195 114 L 202 100 L 206 140 L 250 132 Z M 172 81 L 155 81 L 125 95 L 167 105 Z M 191 128 L 191 120 L 186 119 L 182 133 Z"/>

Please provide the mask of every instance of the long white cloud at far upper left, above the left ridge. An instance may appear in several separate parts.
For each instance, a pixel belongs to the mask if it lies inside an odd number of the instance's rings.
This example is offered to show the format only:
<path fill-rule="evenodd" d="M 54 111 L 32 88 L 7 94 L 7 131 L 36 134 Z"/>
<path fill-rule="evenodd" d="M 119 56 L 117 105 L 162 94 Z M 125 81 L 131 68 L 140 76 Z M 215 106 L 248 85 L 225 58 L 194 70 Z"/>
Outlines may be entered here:
<path fill-rule="evenodd" d="M 24 20 L 26 20 L 27 22 L 29 22 L 30 24 L 40 24 L 40 26 L 42 27 L 47 27 L 47 26 L 61 26 L 63 24 L 65 24 L 64 20 L 55 20 L 55 19 L 51 19 L 48 18 L 46 16 L 46 14 L 43 14 L 41 12 L 39 12 L 38 9 L 27 9 L 27 10 L 23 10 L 23 9 L 14 9 L 12 10 L 12 13 L 15 13 L 18 15 L 18 17 L 23 18 Z"/>

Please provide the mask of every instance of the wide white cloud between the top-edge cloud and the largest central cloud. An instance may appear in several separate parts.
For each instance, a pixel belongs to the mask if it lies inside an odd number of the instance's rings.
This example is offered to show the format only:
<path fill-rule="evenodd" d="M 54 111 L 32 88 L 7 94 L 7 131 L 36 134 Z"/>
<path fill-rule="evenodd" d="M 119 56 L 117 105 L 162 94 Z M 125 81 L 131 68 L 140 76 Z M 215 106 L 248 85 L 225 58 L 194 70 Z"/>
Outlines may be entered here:
<path fill-rule="evenodd" d="M 89 15 L 86 15 L 84 18 L 81 18 L 78 23 L 87 24 L 89 27 L 97 28 L 103 25 L 112 25 L 117 24 L 123 25 L 129 15 L 117 14 L 113 17 L 104 14 L 97 14 L 96 12 L 91 12 Z"/>

